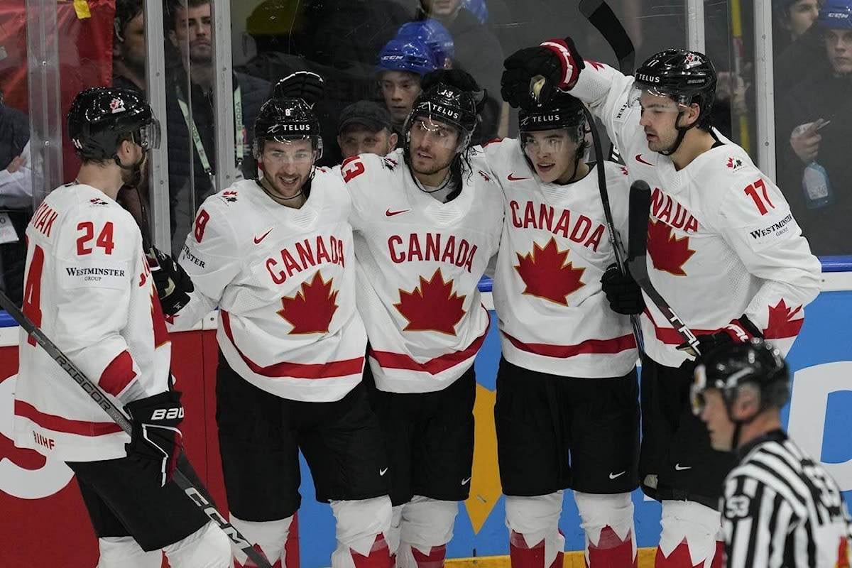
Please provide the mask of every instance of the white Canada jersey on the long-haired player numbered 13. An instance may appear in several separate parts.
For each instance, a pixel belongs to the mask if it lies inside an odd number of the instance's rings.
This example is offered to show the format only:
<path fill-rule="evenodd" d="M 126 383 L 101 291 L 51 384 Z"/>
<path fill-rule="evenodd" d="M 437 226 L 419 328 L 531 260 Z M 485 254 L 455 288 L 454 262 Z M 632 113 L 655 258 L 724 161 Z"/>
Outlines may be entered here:
<path fill-rule="evenodd" d="M 481 157 L 443 204 L 421 191 L 402 150 L 343 163 L 352 194 L 358 309 L 376 385 L 394 393 L 449 386 L 474 363 L 490 318 L 479 280 L 498 250 L 503 195 Z"/>

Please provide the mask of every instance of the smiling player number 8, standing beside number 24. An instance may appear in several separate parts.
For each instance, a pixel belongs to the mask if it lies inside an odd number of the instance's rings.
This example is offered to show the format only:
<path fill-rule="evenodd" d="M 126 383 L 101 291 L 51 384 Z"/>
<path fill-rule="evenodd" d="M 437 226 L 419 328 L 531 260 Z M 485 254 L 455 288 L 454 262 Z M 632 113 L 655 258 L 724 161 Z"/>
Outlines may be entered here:
<path fill-rule="evenodd" d="M 180 258 L 195 292 L 175 318 L 182 329 L 219 307 L 216 422 L 231 522 L 280 565 L 302 450 L 337 519 L 331 565 L 389 568 L 389 469 L 361 383 L 348 191 L 314 166 L 320 124 L 304 100 L 269 100 L 255 132 L 259 178 L 199 208 Z"/>

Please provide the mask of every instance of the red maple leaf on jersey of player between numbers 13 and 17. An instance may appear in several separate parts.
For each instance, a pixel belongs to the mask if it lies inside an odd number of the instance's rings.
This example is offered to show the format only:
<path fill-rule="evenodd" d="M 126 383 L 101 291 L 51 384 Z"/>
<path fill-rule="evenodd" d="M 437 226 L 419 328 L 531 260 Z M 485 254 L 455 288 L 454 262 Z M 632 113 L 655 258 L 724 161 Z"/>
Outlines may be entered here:
<path fill-rule="evenodd" d="M 585 285 L 580 281 L 585 268 L 574 268 L 573 262 L 567 262 L 570 252 L 559 250 L 553 237 L 544 248 L 533 243 L 533 251 L 527 255 L 521 256 L 516 252 L 518 264 L 515 270 L 526 284 L 523 293 L 567 306 L 568 295 Z"/>

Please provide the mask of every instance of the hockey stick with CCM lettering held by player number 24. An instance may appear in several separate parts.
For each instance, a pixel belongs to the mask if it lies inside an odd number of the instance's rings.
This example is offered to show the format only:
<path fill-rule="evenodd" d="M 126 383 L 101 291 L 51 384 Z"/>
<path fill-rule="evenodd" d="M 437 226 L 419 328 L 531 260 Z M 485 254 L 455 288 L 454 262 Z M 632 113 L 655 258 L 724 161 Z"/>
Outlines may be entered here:
<path fill-rule="evenodd" d="M 2 291 L 0 291 L 0 307 L 3 307 L 4 310 L 9 312 L 9 315 L 18 322 L 20 327 L 26 330 L 26 333 L 30 334 L 38 342 L 38 345 L 42 346 L 50 358 L 59 364 L 62 370 L 65 370 L 80 388 L 89 394 L 89 397 L 95 401 L 95 404 L 100 406 L 124 432 L 130 434 L 132 426 L 127 416 L 124 416 L 124 412 L 119 410 L 118 406 L 113 404 L 112 400 L 108 399 L 107 395 L 101 391 L 101 388 L 95 382 L 92 382 L 89 377 L 85 376 L 83 371 L 79 370 L 77 365 L 73 364 L 72 360 L 68 359 L 66 354 L 62 353 L 60 348 L 56 347 L 55 343 L 50 341 L 48 336 L 45 336 L 43 331 L 38 329 L 36 324 L 33 324 L 30 318 L 27 318 Z M 187 479 L 187 476 L 180 469 L 175 469 L 172 480 L 231 539 L 233 548 L 241 550 L 258 568 L 272 568 L 267 559 L 263 558 L 263 555 L 255 550 L 251 543 L 245 539 L 245 536 L 241 535 L 233 525 L 222 517 L 222 514 L 216 510 L 213 503 L 207 500 L 204 494 L 193 485 L 192 481 Z"/>

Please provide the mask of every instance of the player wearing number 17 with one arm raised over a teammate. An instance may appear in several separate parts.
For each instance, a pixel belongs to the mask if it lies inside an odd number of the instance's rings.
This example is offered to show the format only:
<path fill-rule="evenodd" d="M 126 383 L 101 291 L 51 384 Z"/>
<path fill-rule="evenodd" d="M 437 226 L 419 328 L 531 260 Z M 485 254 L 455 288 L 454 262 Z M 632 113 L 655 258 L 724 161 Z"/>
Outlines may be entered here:
<path fill-rule="evenodd" d="M 510 103 L 527 100 L 537 75 L 547 79 L 543 100 L 569 90 L 602 119 L 630 181 L 653 188 L 648 273 L 699 336 L 702 352 L 753 336 L 789 349 L 803 307 L 819 292 L 820 262 L 778 187 L 712 128 L 717 77 L 705 55 L 668 49 L 625 77 L 584 63 L 566 38 L 521 49 L 505 66 Z M 608 286 L 614 309 L 642 311 L 639 470 L 642 490 L 663 503 L 656 565 L 719 565 L 716 508 L 732 462 L 711 449 L 704 424 L 689 411 L 693 357 L 678 348 L 681 337 L 647 296 L 642 310 L 630 278 L 613 271 Z"/>

